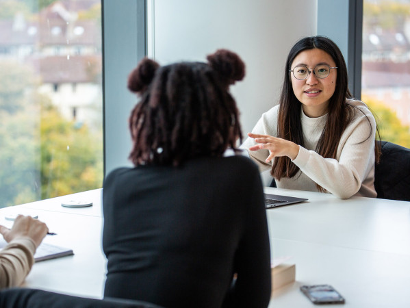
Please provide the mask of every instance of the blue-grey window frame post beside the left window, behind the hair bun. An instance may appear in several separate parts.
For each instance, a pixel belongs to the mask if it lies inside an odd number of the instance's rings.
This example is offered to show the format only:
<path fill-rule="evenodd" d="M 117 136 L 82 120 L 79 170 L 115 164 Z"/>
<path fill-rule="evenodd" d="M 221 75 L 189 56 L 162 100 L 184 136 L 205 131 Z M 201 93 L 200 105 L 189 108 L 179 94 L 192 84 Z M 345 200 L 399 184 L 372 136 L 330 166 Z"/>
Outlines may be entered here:
<path fill-rule="evenodd" d="M 136 103 L 127 77 L 146 55 L 146 1 L 101 0 L 103 27 L 104 178 L 119 166 L 131 166 L 128 117 Z"/>

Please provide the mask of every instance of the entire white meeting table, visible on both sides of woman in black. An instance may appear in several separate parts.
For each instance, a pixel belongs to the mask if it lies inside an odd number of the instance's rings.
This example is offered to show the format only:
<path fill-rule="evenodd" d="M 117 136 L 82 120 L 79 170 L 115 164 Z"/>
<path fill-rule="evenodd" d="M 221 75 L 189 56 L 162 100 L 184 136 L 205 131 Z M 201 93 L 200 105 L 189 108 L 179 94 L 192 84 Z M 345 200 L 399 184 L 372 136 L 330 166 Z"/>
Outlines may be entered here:
<path fill-rule="evenodd" d="M 266 188 L 266 192 L 309 198 L 268 209 L 273 257 L 292 256 L 296 281 L 272 294 L 270 308 L 315 307 L 300 285 L 329 283 L 344 307 L 410 307 L 410 203 Z M 66 208 L 62 201 L 89 199 L 94 205 Z M 57 235 L 45 241 L 73 248 L 75 255 L 34 264 L 27 287 L 102 298 L 105 257 L 101 249 L 101 190 L 0 210 L 36 214 Z M 332 305 L 333 307 L 333 305 Z"/>

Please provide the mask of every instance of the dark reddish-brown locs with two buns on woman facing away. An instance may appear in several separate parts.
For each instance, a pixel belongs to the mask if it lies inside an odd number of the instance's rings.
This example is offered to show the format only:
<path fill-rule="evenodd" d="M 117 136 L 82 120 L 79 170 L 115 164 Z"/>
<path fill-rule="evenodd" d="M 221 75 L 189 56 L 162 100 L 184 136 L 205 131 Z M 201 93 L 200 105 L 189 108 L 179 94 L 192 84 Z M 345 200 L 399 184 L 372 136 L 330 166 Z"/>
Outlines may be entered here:
<path fill-rule="evenodd" d="M 133 164 L 178 166 L 194 157 L 220 157 L 228 147 L 236 150 L 238 138 L 242 142 L 229 86 L 244 78 L 244 62 L 225 49 L 207 60 L 159 66 L 144 58 L 131 72 L 128 88 L 140 94 L 129 118 Z"/>

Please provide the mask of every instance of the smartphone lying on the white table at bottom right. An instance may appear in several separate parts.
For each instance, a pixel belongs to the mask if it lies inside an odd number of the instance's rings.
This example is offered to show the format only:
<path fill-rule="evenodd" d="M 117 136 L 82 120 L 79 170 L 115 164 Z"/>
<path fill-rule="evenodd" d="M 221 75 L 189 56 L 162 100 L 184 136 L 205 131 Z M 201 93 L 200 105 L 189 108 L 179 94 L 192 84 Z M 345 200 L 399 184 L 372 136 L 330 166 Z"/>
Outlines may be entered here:
<path fill-rule="evenodd" d="M 343 296 L 331 285 L 303 285 L 300 291 L 316 305 L 344 304 Z"/>

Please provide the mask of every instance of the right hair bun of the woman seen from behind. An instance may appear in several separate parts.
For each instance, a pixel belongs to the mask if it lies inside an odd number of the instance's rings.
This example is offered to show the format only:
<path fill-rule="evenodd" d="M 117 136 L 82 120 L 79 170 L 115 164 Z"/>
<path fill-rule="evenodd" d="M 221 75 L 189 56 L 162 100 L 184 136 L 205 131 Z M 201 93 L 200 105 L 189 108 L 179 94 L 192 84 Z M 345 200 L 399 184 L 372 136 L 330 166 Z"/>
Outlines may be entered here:
<path fill-rule="evenodd" d="M 212 55 L 207 56 L 209 66 L 216 70 L 227 83 L 235 84 L 245 76 L 245 64 L 236 53 L 227 49 L 218 49 Z"/>

